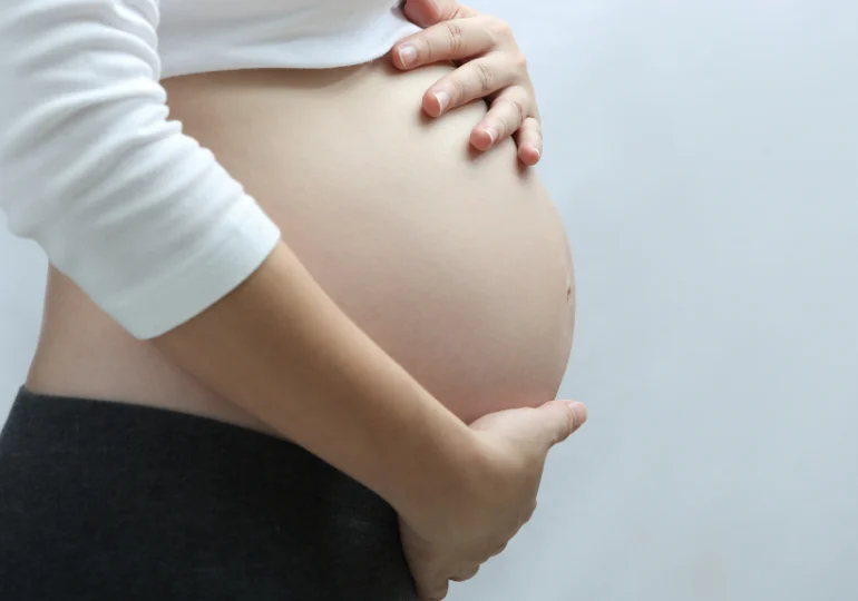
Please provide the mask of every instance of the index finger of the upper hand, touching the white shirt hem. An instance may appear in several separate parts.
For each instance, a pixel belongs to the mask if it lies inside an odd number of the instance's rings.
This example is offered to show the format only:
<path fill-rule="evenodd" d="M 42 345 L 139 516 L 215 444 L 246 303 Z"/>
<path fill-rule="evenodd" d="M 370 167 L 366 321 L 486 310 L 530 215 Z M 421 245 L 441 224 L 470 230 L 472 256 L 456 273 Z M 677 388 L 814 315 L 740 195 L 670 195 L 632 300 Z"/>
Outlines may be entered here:
<path fill-rule="evenodd" d="M 418 31 L 393 47 L 393 65 L 413 69 L 433 62 L 466 60 L 485 55 L 498 42 L 494 17 L 454 19 Z"/>

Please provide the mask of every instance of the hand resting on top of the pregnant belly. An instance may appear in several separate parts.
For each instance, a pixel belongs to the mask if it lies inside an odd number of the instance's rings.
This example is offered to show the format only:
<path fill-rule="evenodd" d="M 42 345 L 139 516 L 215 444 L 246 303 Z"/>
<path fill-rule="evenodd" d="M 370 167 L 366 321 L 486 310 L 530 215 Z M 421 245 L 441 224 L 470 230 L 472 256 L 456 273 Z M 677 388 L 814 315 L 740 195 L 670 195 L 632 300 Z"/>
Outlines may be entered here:
<path fill-rule="evenodd" d="M 543 149 L 539 109 L 527 61 L 509 26 L 455 0 L 408 0 L 404 13 L 426 29 L 393 47 L 396 67 L 413 69 L 450 61 L 459 66 L 423 95 L 423 110 L 439 117 L 485 98 L 490 108 L 471 130 L 470 144 L 485 151 L 515 135 L 518 158 L 536 165 Z"/>

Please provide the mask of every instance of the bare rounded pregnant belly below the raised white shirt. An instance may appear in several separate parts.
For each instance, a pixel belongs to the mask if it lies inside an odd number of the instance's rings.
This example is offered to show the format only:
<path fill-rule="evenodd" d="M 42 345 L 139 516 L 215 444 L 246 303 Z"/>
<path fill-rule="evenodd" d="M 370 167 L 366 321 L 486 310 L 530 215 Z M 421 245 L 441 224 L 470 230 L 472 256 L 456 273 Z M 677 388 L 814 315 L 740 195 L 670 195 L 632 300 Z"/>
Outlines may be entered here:
<path fill-rule="evenodd" d="M 165 87 L 172 118 L 244 184 L 328 294 L 472 420 L 554 397 L 572 342 L 573 275 L 563 225 L 535 171 L 518 166 L 515 145 L 469 150 L 485 106 L 421 116 L 422 92 L 447 71 L 400 73 L 378 61 L 207 73 Z M 76 312 L 69 322 L 79 319 Z M 104 353 L 103 342 L 91 353 Z M 140 357 L 144 345 L 114 344 Z M 116 348 L 105 355 L 103 364 L 118 362 Z M 173 405 L 183 386 L 198 387 L 182 374 L 150 373 L 170 371 L 156 358 L 119 363 L 103 373 L 134 367 L 135 381 L 159 382 L 157 394 L 175 396 Z M 188 411 L 235 421 L 205 391 L 184 397 L 195 398 Z"/>

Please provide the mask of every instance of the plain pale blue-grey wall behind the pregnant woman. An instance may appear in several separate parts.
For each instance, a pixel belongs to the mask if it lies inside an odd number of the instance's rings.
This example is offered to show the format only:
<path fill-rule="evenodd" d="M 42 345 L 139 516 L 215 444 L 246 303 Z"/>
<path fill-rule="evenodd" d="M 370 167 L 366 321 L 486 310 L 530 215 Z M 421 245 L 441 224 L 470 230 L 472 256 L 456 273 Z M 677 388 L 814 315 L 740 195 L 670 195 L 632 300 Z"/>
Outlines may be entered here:
<path fill-rule="evenodd" d="M 858 3 L 474 6 L 530 60 L 591 422 L 450 599 L 858 599 Z M 43 273 L 0 223 L 0 420 Z"/>

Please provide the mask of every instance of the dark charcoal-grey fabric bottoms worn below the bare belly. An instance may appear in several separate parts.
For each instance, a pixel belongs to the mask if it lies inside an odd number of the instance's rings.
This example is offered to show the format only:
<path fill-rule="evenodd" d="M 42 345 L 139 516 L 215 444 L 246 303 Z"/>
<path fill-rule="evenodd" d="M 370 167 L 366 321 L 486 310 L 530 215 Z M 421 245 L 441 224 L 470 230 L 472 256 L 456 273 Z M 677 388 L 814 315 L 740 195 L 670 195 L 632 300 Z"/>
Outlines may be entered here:
<path fill-rule="evenodd" d="M 0 434 L 3 601 L 415 601 L 397 516 L 285 441 L 21 390 Z"/>

